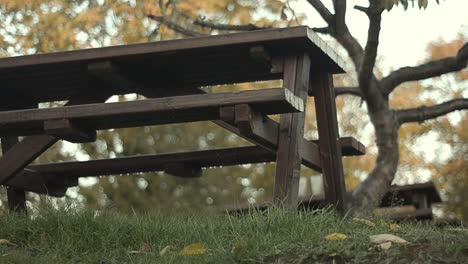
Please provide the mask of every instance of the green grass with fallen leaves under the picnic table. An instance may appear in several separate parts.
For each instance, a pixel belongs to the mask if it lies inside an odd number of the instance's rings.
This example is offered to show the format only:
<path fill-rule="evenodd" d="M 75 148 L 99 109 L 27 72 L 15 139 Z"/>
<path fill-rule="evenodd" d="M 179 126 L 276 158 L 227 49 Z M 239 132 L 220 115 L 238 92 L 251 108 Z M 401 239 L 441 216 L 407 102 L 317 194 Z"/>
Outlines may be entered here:
<path fill-rule="evenodd" d="M 374 222 L 275 208 L 243 217 L 41 209 L 33 218 L 0 215 L 0 239 L 12 243 L 0 244 L 0 263 L 468 263 L 466 229 L 406 223 L 392 231 L 388 222 Z M 333 232 L 348 239 L 326 240 Z M 370 249 L 369 235 L 380 233 L 411 244 Z M 207 251 L 180 254 L 194 243 Z"/>

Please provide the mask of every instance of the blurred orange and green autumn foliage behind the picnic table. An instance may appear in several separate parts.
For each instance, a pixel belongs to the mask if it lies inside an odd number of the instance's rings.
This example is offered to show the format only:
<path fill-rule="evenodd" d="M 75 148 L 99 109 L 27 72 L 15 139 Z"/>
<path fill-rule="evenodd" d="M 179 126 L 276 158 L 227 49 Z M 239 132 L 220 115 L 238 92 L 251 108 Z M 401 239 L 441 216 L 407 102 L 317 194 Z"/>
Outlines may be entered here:
<path fill-rule="evenodd" d="M 153 19 L 148 15 L 152 15 Z M 177 33 L 171 29 L 172 24 L 182 27 L 186 34 L 220 33 L 194 25 L 193 21 L 284 27 L 298 25 L 304 17 L 294 12 L 289 1 L 283 0 L 2 0 L 0 19 L 4 21 L 0 24 L 0 55 L 13 56 L 183 37 L 180 30 Z M 158 23 L 158 19 L 165 19 L 166 23 Z M 433 43 L 429 47 L 430 59 L 453 55 L 464 42 L 466 36 L 461 35 L 460 40 L 453 43 Z M 466 80 L 465 71 L 433 82 L 405 84 L 408 89 L 402 87 L 392 95 L 392 106 L 408 108 L 425 102 L 440 102 L 446 97 L 463 93 L 463 87 L 466 91 Z M 447 94 L 441 94 L 440 89 L 428 89 L 437 82 L 451 84 L 440 85 L 448 87 L 443 91 Z M 335 83 L 337 86 L 356 85 L 357 81 L 354 76 L 344 75 L 338 76 Z M 206 89 L 252 89 L 277 84 L 267 82 Z M 140 95 L 112 98 L 114 101 L 139 99 L 142 99 Z M 340 96 L 337 106 L 341 135 L 354 136 L 367 146 L 365 156 L 345 158 L 347 188 L 352 190 L 374 167 L 377 148 L 361 99 Z M 313 102 L 310 101 L 306 124 L 306 137 L 309 139 L 317 137 L 312 109 Z M 401 162 L 396 178 L 399 183 L 412 183 L 433 177 L 449 201 L 447 209 L 465 219 L 468 217 L 467 126 L 466 113 L 454 113 L 437 121 L 426 122 L 423 126 L 405 125 L 400 130 Z M 441 143 L 435 144 L 434 151 L 437 153 L 431 156 L 428 154 L 431 150 L 424 150 L 422 145 L 427 144 L 424 140 L 434 139 Z M 198 122 L 100 131 L 95 143 L 73 145 L 59 142 L 36 162 L 102 159 L 240 145 L 248 143 L 212 123 Z M 317 179 L 319 174 L 304 169 L 302 176 L 303 195 L 310 195 L 313 187 L 320 192 L 321 188 L 315 188 L 320 181 L 312 181 L 311 185 L 311 179 Z M 68 191 L 67 199 L 90 208 L 111 207 L 121 211 L 216 208 L 267 201 L 272 195 L 273 180 L 274 166 L 271 164 L 210 168 L 197 179 L 181 179 L 164 173 L 116 175 L 99 180 L 82 179 L 79 188 Z M 30 198 L 33 201 L 41 199 L 37 195 L 30 195 Z"/>

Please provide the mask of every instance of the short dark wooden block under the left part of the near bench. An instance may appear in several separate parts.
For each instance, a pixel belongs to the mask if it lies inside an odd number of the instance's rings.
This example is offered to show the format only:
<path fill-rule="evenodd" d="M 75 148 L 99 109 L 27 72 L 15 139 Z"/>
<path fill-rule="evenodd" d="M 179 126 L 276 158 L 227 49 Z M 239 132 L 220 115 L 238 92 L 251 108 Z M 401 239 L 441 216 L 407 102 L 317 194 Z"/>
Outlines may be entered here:
<path fill-rule="evenodd" d="M 72 143 L 86 143 L 96 141 L 96 130 L 80 127 L 68 119 L 46 120 L 44 131 L 62 140 Z"/>

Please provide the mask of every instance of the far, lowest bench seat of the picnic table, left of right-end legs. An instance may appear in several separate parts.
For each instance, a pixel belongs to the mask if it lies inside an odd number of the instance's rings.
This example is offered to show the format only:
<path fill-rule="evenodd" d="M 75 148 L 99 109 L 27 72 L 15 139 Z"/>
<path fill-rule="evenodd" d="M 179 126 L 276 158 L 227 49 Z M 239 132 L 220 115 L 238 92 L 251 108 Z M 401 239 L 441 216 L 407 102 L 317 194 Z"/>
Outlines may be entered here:
<path fill-rule="evenodd" d="M 275 161 L 274 153 L 252 146 L 31 165 L 28 169 L 37 174 L 56 177 L 105 176 L 155 171 L 167 171 L 180 177 L 193 177 L 193 173 L 173 173 L 174 170 L 171 168 L 168 171 L 168 164 L 184 164 L 187 168 L 193 169 L 273 161 Z M 32 176 L 28 172 L 24 173 L 26 176 Z"/>

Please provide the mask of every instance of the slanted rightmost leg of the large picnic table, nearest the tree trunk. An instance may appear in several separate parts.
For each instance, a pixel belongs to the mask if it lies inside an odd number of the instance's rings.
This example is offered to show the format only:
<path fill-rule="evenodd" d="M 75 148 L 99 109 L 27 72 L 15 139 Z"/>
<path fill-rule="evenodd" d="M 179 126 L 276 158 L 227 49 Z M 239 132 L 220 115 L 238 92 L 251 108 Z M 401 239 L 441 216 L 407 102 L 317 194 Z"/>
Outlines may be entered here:
<path fill-rule="evenodd" d="M 332 75 L 317 73 L 311 76 L 309 94 L 315 96 L 325 200 L 328 204 L 335 206 L 338 212 L 343 213 L 346 186 Z"/>

